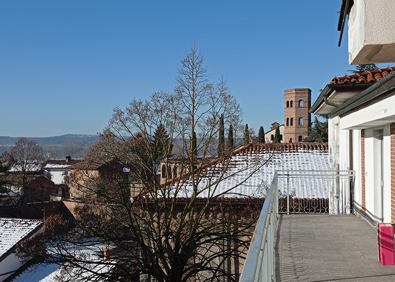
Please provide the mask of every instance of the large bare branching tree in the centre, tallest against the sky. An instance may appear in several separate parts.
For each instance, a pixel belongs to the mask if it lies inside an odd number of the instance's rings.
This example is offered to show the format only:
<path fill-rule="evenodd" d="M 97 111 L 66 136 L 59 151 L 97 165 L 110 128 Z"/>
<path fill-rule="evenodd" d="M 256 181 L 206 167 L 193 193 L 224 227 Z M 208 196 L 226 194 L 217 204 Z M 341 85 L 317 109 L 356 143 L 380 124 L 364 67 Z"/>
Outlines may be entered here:
<path fill-rule="evenodd" d="M 101 264 L 116 266 L 123 281 L 238 280 L 262 201 L 225 198 L 250 197 L 234 189 L 267 159 L 250 158 L 234 170 L 233 152 L 212 154 L 218 148 L 221 115 L 236 127 L 242 111 L 224 79 L 209 83 L 203 54 L 195 46 L 181 64 L 174 93 L 156 92 L 149 100 L 133 99 L 125 110 L 114 109 L 100 141 L 70 176 L 71 185 L 87 195 L 75 209 L 76 228 L 49 236 L 56 244 L 37 243 L 51 246 L 51 252 L 21 252 L 78 266 L 92 259 L 65 251 L 70 249 L 65 245 L 105 243 L 112 259 Z M 165 142 L 153 142 L 159 131 L 166 132 Z M 199 136 L 196 150 L 190 146 L 193 132 Z M 183 145 L 181 157 L 174 159 L 176 138 Z M 175 175 L 175 170 L 181 173 Z M 164 172 L 162 184 L 158 171 Z M 239 174 L 239 180 L 222 185 Z M 25 246 L 31 246 L 29 241 Z"/>

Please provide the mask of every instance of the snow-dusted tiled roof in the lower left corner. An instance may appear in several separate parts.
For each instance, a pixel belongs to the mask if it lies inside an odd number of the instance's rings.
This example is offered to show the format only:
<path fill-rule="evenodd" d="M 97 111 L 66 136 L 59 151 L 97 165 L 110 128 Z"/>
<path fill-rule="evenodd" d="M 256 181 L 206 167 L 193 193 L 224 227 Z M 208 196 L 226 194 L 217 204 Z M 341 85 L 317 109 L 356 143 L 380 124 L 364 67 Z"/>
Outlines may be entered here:
<path fill-rule="evenodd" d="M 12 252 L 19 241 L 33 235 L 42 220 L 0 218 L 0 261 Z"/>

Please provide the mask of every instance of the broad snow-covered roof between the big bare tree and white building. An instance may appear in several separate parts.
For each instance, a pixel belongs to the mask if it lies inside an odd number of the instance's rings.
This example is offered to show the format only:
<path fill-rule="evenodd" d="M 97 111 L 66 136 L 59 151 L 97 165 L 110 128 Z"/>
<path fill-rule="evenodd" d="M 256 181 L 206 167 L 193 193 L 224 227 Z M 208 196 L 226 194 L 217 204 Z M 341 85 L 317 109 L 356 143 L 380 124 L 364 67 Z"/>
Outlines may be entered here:
<path fill-rule="evenodd" d="M 286 148 L 287 150 L 273 153 L 270 150 L 261 150 L 259 146 L 248 147 L 233 155 L 230 163 L 226 164 L 226 168 L 223 164 L 218 163 L 207 166 L 201 173 L 198 190 L 202 192 L 198 197 L 222 193 L 226 193 L 226 197 L 235 198 L 264 197 L 276 170 L 329 169 L 328 152 L 325 150 L 325 146 L 320 146 L 317 149 L 309 146 L 288 146 Z M 294 191 L 295 196 L 305 197 L 306 194 L 309 194 L 317 198 L 329 197 L 328 185 L 323 183 L 316 187 L 314 191 L 311 191 L 307 185 L 302 186 Z M 233 189 L 229 191 L 231 188 Z M 192 191 L 192 181 L 187 178 L 181 191 L 177 193 L 177 197 L 190 197 Z"/>

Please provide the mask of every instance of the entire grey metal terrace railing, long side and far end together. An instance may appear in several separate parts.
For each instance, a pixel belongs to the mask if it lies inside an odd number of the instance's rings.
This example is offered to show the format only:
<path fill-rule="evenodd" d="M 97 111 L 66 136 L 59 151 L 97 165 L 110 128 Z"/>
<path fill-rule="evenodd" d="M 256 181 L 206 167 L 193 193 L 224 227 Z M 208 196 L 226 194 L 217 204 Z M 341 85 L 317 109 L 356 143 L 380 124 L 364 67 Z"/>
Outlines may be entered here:
<path fill-rule="evenodd" d="M 354 171 L 350 170 L 276 171 L 256 223 L 239 281 L 274 280 L 274 245 L 279 211 L 288 214 L 350 213 L 353 180 Z"/>

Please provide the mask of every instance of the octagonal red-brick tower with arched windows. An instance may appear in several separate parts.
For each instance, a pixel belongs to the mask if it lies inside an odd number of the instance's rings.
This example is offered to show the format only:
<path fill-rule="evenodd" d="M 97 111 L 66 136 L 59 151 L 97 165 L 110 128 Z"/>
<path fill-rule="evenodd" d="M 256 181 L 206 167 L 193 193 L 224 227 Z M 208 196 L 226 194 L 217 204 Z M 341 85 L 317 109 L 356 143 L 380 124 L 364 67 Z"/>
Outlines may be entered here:
<path fill-rule="evenodd" d="M 302 142 L 311 124 L 311 90 L 284 90 L 284 142 Z"/>

